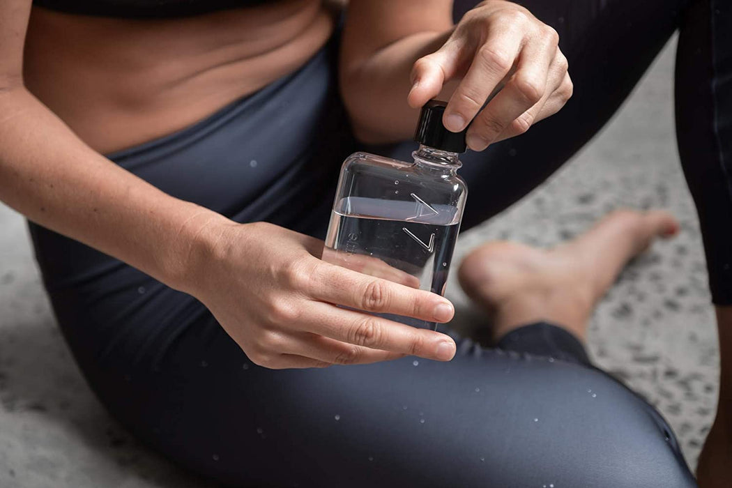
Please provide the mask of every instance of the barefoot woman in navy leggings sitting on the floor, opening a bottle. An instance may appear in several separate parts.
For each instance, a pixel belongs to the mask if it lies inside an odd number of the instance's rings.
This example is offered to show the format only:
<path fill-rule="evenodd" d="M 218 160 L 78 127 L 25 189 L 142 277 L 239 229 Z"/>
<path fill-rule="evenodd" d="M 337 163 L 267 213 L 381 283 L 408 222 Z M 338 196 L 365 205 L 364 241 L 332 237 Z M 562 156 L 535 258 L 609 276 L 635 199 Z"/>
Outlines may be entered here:
<path fill-rule="evenodd" d="M 622 264 L 674 232 L 668 215 L 471 255 L 463 286 L 496 312 L 496 349 L 335 307 L 453 313 L 322 263 L 310 236 L 351 134 L 405 157 L 433 97 L 449 129 L 474 119 L 463 229 L 488 219 L 591 138 L 681 26 L 681 154 L 727 304 L 730 111 L 710 87 L 729 89 L 728 5 L 353 0 L 342 38 L 337 15 L 319 0 L 0 4 L 0 198 L 35 222 L 56 317 L 102 402 L 237 486 L 692 486 L 665 421 L 581 344 Z M 565 54 L 573 99 L 508 139 L 567 102 Z M 305 369 L 330 364 L 351 365 Z M 723 418 L 708 487 L 724 482 Z"/>

